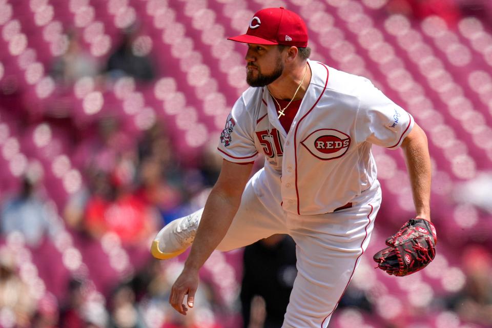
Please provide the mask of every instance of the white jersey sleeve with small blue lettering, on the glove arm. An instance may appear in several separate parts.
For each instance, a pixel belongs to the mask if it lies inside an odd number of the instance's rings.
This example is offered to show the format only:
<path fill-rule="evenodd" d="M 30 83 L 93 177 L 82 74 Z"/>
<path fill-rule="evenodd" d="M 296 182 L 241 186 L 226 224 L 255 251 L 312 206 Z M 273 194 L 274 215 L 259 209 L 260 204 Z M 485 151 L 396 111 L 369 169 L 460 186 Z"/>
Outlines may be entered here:
<path fill-rule="evenodd" d="M 356 121 L 358 141 L 368 141 L 388 149 L 397 149 L 412 131 L 414 118 L 386 97 L 370 81 L 361 86 Z"/>

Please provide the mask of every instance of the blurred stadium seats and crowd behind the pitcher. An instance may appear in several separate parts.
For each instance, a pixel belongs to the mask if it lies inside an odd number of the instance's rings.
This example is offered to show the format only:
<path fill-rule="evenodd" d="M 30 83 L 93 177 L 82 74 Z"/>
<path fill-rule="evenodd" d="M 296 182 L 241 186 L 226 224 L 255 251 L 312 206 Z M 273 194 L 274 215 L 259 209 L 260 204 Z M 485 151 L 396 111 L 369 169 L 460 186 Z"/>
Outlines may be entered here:
<path fill-rule="evenodd" d="M 186 254 L 149 253 L 218 176 L 247 88 L 245 47 L 226 37 L 278 6 L 305 19 L 312 59 L 411 112 L 432 155 L 434 262 L 374 269 L 414 214 L 401 152 L 374 147 L 383 204 L 330 327 L 492 326 L 489 0 L 0 0 L 1 327 L 281 325 L 290 238 L 213 253 L 186 317 L 168 304 Z"/>

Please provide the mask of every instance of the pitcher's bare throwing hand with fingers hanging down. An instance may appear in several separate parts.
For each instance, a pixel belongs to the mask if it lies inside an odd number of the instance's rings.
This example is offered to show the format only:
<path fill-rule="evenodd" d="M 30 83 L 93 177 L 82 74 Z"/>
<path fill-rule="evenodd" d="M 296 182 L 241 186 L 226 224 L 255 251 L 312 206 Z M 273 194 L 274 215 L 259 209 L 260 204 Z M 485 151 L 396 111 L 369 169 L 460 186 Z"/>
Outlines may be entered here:
<path fill-rule="evenodd" d="M 197 288 L 198 270 L 183 269 L 183 272 L 181 272 L 176 282 L 174 282 L 171 288 L 171 295 L 169 296 L 169 303 L 174 310 L 186 316 L 188 308 L 183 304 L 183 300 L 185 299 L 185 295 L 188 295 L 188 307 L 193 308 Z"/>

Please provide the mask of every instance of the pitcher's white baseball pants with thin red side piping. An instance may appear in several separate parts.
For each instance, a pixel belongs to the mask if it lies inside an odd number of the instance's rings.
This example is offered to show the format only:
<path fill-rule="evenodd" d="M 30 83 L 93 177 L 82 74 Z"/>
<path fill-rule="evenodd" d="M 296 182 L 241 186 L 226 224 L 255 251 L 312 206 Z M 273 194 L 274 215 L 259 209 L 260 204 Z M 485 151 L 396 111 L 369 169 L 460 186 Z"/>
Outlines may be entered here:
<path fill-rule="evenodd" d="M 282 328 L 326 328 L 371 238 L 381 203 L 379 182 L 352 200 L 352 208 L 295 215 L 272 198 L 258 197 L 252 180 L 217 249 L 230 251 L 273 234 L 291 235 L 298 274 Z"/>

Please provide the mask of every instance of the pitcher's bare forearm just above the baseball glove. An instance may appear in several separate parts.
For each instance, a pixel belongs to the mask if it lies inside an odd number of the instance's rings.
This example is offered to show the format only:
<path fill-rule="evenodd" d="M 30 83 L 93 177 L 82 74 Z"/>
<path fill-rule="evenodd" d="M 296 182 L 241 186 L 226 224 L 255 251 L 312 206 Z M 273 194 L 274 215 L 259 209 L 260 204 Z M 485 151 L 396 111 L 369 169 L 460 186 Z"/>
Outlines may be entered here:
<path fill-rule="evenodd" d="M 412 186 L 417 217 L 430 221 L 430 155 L 427 137 L 419 126 L 414 136 L 402 145 Z M 414 131 L 412 131 L 414 132 Z"/>

